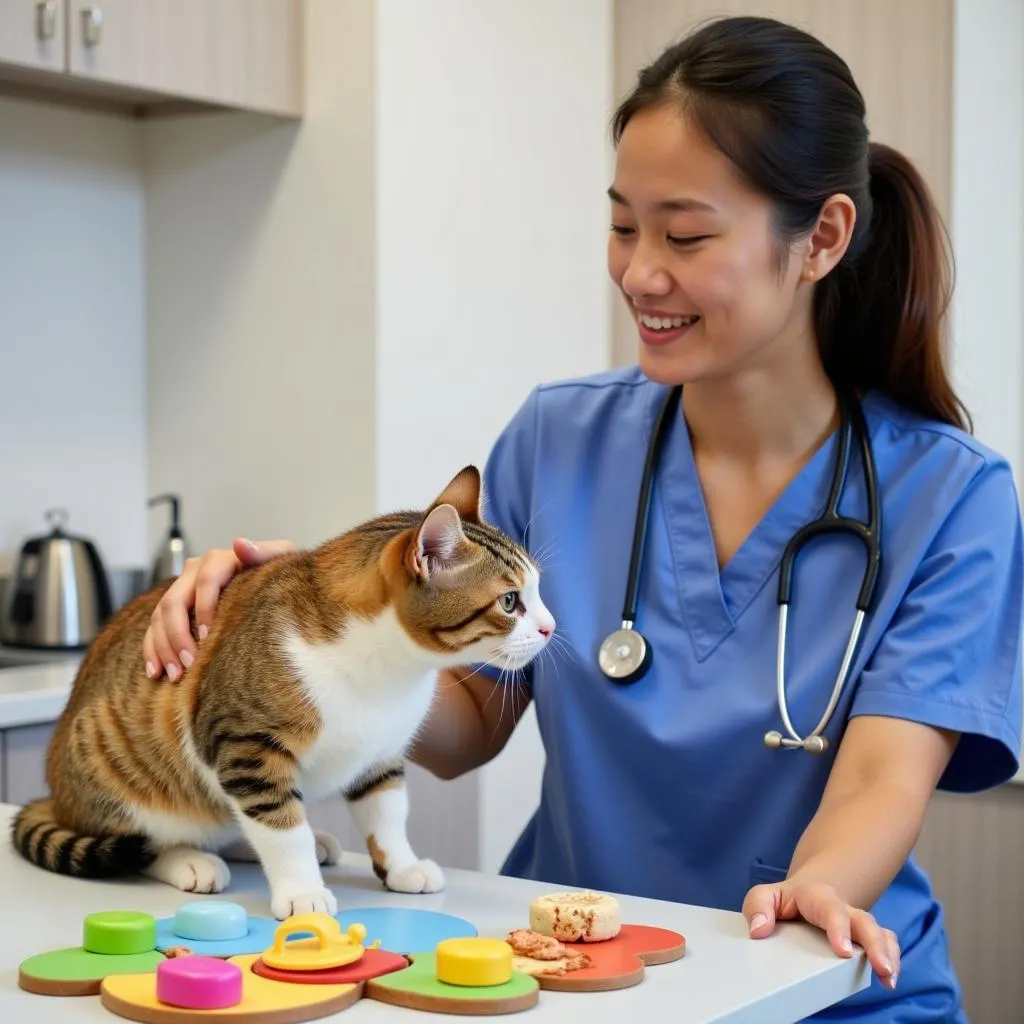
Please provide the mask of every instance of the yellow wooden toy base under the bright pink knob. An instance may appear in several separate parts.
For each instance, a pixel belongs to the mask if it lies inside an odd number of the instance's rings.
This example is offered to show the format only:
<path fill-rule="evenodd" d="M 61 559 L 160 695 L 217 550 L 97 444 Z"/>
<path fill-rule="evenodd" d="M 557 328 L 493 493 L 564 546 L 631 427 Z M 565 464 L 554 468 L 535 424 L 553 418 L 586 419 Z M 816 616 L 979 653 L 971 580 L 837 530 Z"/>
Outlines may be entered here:
<path fill-rule="evenodd" d="M 223 1010 L 185 1010 L 157 999 L 156 974 L 112 975 L 99 997 L 112 1013 L 143 1024 L 196 1024 L 211 1018 L 234 1024 L 300 1024 L 338 1013 L 362 995 L 359 985 L 286 985 L 252 971 L 254 955 L 232 956 L 243 973 L 242 1001 Z"/>

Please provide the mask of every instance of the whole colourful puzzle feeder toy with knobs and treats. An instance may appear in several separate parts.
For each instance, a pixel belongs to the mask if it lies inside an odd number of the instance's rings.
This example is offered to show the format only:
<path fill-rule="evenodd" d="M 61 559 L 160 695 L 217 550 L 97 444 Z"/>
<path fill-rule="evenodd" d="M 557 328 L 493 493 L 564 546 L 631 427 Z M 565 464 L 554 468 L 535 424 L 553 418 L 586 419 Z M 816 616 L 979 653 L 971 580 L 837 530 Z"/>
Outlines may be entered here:
<path fill-rule="evenodd" d="M 81 947 L 25 961 L 18 983 L 44 995 L 98 993 L 112 1013 L 144 1024 L 294 1024 L 362 998 L 494 1015 L 529 1010 L 543 989 L 636 985 L 647 966 L 685 949 L 678 932 L 621 924 L 617 902 L 597 893 L 538 897 L 528 920 L 502 939 L 479 936 L 459 918 L 407 908 L 280 923 L 220 900 L 184 904 L 161 921 L 103 911 L 85 919 Z"/>

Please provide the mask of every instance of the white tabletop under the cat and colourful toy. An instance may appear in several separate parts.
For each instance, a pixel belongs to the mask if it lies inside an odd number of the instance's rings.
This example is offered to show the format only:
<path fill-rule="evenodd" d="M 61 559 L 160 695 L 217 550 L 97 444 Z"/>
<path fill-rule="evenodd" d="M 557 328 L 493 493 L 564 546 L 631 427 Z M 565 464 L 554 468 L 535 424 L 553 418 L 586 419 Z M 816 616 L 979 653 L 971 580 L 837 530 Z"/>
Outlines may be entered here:
<path fill-rule="evenodd" d="M 0 805 L 0 830 L 8 834 L 14 813 Z M 55 998 L 17 987 L 22 961 L 39 952 L 78 945 L 82 921 L 97 910 L 134 909 L 157 918 L 173 916 L 193 900 L 231 900 L 254 914 L 269 915 L 262 873 L 253 864 L 231 863 L 231 883 L 217 896 L 193 896 L 148 879 L 91 882 L 51 874 L 23 860 L 9 843 L 0 848 L 4 914 L 16 927 L 0 932 L 0 1010 L 9 1021 L 63 1024 L 74 1019 L 119 1020 L 98 996 Z M 476 871 L 449 870 L 445 889 L 430 895 L 389 893 L 374 877 L 369 858 L 346 853 L 326 868 L 325 880 L 338 897 L 339 910 L 404 906 L 464 918 L 480 935 L 504 936 L 528 927 L 529 901 L 561 887 L 538 885 Z M 543 990 L 538 1006 L 514 1018 L 545 1024 L 586 1018 L 588 1024 L 626 1020 L 674 1024 L 791 1024 L 838 1002 L 870 983 L 870 967 L 858 953 L 836 956 L 816 929 L 782 925 L 765 940 L 746 935 L 741 914 L 657 900 L 617 897 L 623 921 L 671 928 L 686 938 L 682 959 L 646 969 L 644 979 L 620 991 L 583 993 Z M 403 1010 L 360 1000 L 333 1018 L 350 1024 L 446 1021 L 451 1016 Z M 508 1018 L 507 1018 L 508 1019 Z"/>

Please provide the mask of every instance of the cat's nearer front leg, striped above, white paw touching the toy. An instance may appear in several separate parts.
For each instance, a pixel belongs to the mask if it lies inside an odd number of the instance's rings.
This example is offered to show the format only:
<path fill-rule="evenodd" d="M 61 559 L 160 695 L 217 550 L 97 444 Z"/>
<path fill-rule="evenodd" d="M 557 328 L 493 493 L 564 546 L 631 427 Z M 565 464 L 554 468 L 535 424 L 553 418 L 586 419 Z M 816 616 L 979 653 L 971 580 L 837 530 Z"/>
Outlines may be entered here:
<path fill-rule="evenodd" d="M 220 744 L 214 768 L 266 876 L 273 915 L 335 913 L 338 901 L 321 874 L 295 756 L 265 733 L 232 735 Z"/>

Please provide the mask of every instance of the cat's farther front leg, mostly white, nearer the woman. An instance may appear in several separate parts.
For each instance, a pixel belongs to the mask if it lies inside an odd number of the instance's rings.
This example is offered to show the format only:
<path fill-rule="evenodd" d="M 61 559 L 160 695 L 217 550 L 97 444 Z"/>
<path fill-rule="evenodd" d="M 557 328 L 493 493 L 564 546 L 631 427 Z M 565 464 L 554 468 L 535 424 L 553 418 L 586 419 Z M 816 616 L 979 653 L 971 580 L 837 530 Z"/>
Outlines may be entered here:
<path fill-rule="evenodd" d="M 432 893 L 444 888 L 444 874 L 432 860 L 420 860 L 407 834 L 409 793 L 404 766 L 381 765 L 345 792 L 352 818 L 362 833 L 374 872 L 394 892 Z"/>

